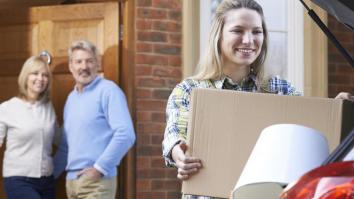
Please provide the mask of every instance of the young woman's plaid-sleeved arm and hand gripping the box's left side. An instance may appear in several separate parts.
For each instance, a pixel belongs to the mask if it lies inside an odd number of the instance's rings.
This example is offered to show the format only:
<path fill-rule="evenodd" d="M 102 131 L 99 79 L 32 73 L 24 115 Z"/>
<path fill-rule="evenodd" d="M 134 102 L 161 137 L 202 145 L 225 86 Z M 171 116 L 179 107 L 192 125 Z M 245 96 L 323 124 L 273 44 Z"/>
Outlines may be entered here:
<path fill-rule="evenodd" d="M 199 158 L 185 155 L 189 100 L 192 87 L 187 82 L 177 85 L 172 91 L 167 107 L 167 124 L 163 140 L 163 156 L 167 166 L 174 166 L 177 178 L 186 180 L 202 168 Z"/>

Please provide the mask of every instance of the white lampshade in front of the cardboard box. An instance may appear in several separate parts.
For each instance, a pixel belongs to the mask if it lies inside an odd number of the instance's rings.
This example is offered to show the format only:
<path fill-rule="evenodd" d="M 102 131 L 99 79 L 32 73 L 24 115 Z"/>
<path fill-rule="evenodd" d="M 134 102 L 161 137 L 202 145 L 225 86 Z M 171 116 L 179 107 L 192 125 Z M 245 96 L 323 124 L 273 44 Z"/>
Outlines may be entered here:
<path fill-rule="evenodd" d="M 328 155 L 326 138 L 312 128 L 269 126 L 260 134 L 234 190 L 255 183 L 287 185 L 320 166 Z"/>

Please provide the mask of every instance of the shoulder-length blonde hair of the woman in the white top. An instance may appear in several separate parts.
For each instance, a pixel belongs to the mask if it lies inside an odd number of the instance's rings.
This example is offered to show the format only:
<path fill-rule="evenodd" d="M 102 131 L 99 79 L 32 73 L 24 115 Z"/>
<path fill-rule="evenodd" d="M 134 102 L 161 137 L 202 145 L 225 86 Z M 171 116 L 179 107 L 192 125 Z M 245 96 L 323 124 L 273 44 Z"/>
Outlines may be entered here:
<path fill-rule="evenodd" d="M 32 56 L 28 58 L 22 66 L 20 75 L 18 76 L 18 92 L 19 92 L 18 96 L 20 98 L 28 97 L 28 92 L 27 92 L 28 76 L 31 73 L 38 71 L 43 67 L 48 70 L 48 75 L 49 75 L 48 84 L 45 90 L 38 96 L 37 100 L 44 101 L 44 102 L 47 102 L 49 100 L 50 87 L 52 82 L 52 73 L 50 71 L 48 63 L 39 56 Z"/>

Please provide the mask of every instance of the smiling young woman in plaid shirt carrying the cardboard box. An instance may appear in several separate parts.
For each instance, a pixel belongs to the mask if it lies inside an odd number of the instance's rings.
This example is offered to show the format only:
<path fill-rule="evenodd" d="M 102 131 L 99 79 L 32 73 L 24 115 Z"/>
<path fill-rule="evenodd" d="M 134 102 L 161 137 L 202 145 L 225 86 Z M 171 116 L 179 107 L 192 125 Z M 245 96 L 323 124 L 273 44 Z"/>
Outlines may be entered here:
<path fill-rule="evenodd" d="M 187 180 L 202 168 L 198 157 L 185 155 L 189 102 L 194 88 L 300 95 L 287 81 L 263 76 L 267 39 L 263 11 L 256 1 L 224 0 L 220 3 L 212 23 L 208 49 L 199 61 L 196 75 L 174 88 L 166 107 L 163 156 L 167 166 L 177 168 L 179 179 Z M 345 96 L 341 94 L 341 97 L 349 98 Z M 183 198 L 210 197 L 184 195 Z"/>

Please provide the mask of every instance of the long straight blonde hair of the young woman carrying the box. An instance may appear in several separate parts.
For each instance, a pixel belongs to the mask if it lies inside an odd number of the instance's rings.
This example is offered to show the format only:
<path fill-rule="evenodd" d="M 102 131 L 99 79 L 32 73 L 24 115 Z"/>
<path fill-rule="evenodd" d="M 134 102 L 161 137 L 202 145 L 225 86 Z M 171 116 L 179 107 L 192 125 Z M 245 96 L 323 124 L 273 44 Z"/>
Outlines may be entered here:
<path fill-rule="evenodd" d="M 223 76 L 223 60 L 221 56 L 222 31 L 225 24 L 225 15 L 230 10 L 247 8 L 256 11 L 262 19 L 262 28 L 264 41 L 261 52 L 256 60 L 250 65 L 253 73 L 257 76 L 257 82 L 263 79 L 263 64 L 268 49 L 268 31 L 264 21 L 262 7 L 254 0 L 224 0 L 215 11 L 215 17 L 212 22 L 209 42 L 205 55 L 199 60 L 197 72 L 192 77 L 194 79 L 220 79 Z"/>

